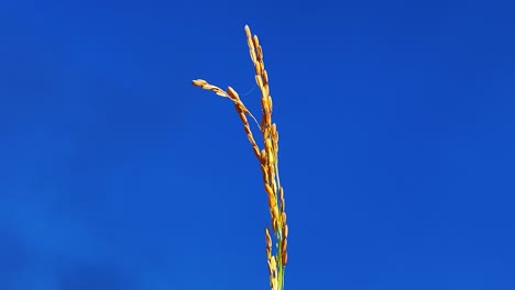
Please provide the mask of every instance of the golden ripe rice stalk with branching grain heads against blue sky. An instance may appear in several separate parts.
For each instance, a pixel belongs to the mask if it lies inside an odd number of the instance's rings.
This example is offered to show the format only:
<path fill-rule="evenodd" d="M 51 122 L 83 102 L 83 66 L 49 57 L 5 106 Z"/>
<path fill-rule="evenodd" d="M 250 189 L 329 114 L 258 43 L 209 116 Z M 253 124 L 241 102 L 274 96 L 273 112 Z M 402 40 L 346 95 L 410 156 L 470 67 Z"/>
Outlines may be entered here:
<path fill-rule="evenodd" d="M 287 236 L 288 226 L 286 224 L 286 212 L 284 204 L 284 190 L 278 172 L 278 132 L 275 123 L 272 122 L 272 97 L 270 96 L 269 76 L 263 62 L 263 51 L 258 35 L 252 35 L 245 25 L 246 43 L 250 49 L 250 57 L 254 65 L 255 83 L 261 90 L 261 122 L 246 109 L 238 92 L 228 87 L 226 90 L 210 85 L 204 79 L 193 80 L 193 85 L 205 90 L 210 90 L 216 94 L 228 98 L 234 103 L 246 137 L 252 145 L 255 157 L 260 163 L 263 175 L 264 190 L 269 198 L 269 210 L 271 215 L 271 227 L 265 227 L 266 258 L 269 264 L 270 288 L 272 290 L 284 289 L 284 270 L 287 263 Z M 263 136 L 263 145 L 260 147 L 252 134 L 248 116 L 250 116 L 259 127 Z M 273 237 L 271 235 L 273 233 Z M 274 247 L 272 245 L 274 244 Z"/>

